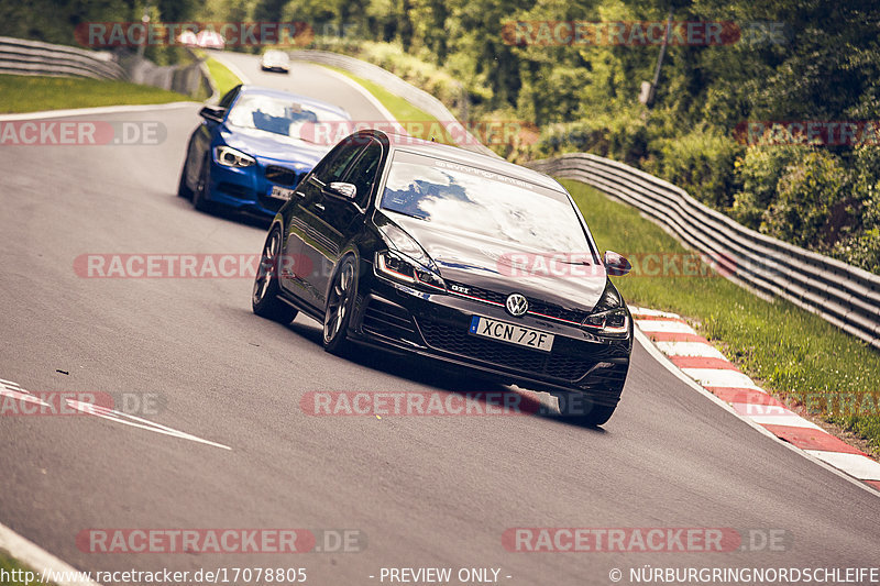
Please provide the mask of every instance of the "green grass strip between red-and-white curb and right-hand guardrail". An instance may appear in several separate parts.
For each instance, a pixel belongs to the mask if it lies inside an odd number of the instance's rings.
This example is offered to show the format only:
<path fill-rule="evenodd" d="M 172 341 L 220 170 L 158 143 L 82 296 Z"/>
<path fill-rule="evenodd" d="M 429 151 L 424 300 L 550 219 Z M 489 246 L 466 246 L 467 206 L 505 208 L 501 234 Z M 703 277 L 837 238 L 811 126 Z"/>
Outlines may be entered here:
<path fill-rule="evenodd" d="M 784 300 L 763 300 L 712 272 L 645 276 L 663 258 L 689 251 L 626 204 L 573 180 L 561 181 L 580 206 L 600 250 L 631 257 L 615 278 L 628 302 L 683 317 L 765 389 L 790 405 L 867 440 L 880 453 L 880 353 Z M 641 270 L 638 265 L 641 263 Z M 641 273 L 641 274 L 639 274 Z"/>

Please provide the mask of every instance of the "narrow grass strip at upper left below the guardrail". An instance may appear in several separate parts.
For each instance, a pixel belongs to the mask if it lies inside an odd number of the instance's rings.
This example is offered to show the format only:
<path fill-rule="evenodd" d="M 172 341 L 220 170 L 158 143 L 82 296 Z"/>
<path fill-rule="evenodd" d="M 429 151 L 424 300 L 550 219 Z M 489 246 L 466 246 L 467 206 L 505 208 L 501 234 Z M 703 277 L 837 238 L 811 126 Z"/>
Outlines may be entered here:
<path fill-rule="evenodd" d="M 0 75 L 0 113 L 4 114 L 97 106 L 168 103 L 189 99 L 176 91 L 128 81 Z"/>

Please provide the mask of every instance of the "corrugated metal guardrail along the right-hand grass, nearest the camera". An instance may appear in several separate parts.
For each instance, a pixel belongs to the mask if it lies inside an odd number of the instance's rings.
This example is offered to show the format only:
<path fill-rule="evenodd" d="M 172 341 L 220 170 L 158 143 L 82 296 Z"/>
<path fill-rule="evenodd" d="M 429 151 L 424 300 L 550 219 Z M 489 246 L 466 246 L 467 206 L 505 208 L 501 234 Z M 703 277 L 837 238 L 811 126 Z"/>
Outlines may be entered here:
<path fill-rule="evenodd" d="M 880 349 L 880 276 L 760 234 L 623 163 L 575 153 L 527 166 L 635 206 L 711 256 L 732 280 L 788 299 Z"/>

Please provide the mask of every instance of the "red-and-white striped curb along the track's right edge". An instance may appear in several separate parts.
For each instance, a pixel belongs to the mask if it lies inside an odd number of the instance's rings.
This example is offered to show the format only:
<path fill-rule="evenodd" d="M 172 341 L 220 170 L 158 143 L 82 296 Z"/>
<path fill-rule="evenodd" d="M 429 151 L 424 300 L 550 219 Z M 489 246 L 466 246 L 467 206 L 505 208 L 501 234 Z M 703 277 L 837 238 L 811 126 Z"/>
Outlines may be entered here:
<path fill-rule="evenodd" d="M 636 325 L 682 373 L 743 419 L 880 490 L 880 463 L 807 421 L 739 372 L 681 316 L 630 307 Z"/>

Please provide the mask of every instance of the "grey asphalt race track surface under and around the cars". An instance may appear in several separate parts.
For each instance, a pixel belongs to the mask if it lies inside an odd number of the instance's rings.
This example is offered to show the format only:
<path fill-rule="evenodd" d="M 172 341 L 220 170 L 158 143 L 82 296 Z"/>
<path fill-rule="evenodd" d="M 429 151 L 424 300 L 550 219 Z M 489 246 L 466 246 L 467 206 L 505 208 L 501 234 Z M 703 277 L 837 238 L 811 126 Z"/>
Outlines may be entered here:
<path fill-rule="evenodd" d="M 320 68 L 262 74 L 375 120 Z M 198 107 L 160 145 L 7 146 L 0 157 L 0 378 L 31 391 L 158 394 L 152 421 L 223 450 L 95 417 L 0 418 L 0 522 L 79 570 L 499 567 L 521 585 L 610 584 L 613 567 L 876 564 L 880 499 L 684 385 L 637 346 L 604 429 L 541 417 L 310 417 L 317 390 L 497 390 L 376 352 L 323 352 L 318 324 L 251 313 L 246 278 L 97 279 L 84 253 L 257 253 L 264 229 L 175 196 Z M 588 221 L 588 217 L 587 217 Z M 63 374 L 57 371 L 65 371 Z M 513 553 L 515 527 L 783 529 L 784 552 Z M 89 528 L 358 529 L 360 553 L 98 554 Z M 376 578 L 370 578 L 374 575 Z M 507 578 L 506 576 L 512 576 Z M 387 584 L 387 582 L 386 582 Z"/>

